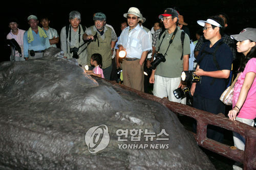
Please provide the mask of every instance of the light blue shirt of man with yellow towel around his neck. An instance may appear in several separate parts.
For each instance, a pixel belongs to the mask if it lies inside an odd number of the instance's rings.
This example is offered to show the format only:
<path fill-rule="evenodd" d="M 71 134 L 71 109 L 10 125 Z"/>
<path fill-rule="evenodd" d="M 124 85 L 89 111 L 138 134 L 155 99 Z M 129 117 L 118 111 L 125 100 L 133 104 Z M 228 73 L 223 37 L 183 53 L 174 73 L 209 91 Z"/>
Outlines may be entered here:
<path fill-rule="evenodd" d="M 45 50 L 50 47 L 50 41 L 49 41 L 48 37 L 46 37 L 46 38 L 40 37 L 39 32 L 36 34 L 33 30 L 32 30 L 32 34 L 33 34 L 34 40 L 29 43 L 28 42 L 28 31 L 26 31 L 24 33 L 24 37 L 23 37 L 24 57 L 29 56 L 29 54 L 28 54 L 29 50 L 40 51 L 40 50 Z"/>

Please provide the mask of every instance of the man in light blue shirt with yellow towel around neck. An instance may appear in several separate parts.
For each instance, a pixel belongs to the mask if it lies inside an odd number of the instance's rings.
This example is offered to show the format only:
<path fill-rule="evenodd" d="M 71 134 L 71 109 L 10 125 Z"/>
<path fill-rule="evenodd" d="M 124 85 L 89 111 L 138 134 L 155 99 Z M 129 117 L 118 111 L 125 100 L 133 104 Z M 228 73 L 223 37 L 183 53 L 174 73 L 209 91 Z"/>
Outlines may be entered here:
<path fill-rule="evenodd" d="M 38 27 L 38 20 L 35 15 L 28 17 L 30 28 L 24 33 L 24 58 L 41 58 L 45 49 L 50 47 L 49 38 L 45 30 Z"/>

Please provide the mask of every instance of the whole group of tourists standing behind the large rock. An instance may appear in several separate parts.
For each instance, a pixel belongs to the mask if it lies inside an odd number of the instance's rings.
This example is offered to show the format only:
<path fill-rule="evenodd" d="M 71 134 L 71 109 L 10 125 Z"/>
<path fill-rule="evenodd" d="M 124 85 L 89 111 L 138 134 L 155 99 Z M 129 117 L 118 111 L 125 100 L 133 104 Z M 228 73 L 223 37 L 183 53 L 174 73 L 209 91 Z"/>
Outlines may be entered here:
<path fill-rule="evenodd" d="M 238 120 L 253 126 L 256 117 L 256 29 L 245 28 L 237 35 L 224 33 L 227 16 L 216 14 L 206 20 L 198 20 L 202 34 L 197 43 L 190 41 L 187 23 L 177 9 L 167 8 L 159 14 L 159 22 L 152 29 L 142 24 L 144 18 L 138 8 L 131 7 L 123 14 L 125 21 L 120 23 L 121 34 L 117 37 L 112 26 L 106 23 L 106 15 L 97 12 L 93 15 L 94 25 L 86 28 L 80 24 L 78 11 L 69 14 L 70 25 L 61 29 L 60 36 L 49 27 L 50 20 L 28 16 L 29 30 L 18 29 L 16 19 L 9 21 L 11 32 L 7 39 L 15 39 L 22 49 L 23 57 L 15 52 L 12 61 L 41 58 L 44 50 L 56 47 L 60 40 L 61 50 L 67 59 L 76 58 L 78 65 L 88 74 L 108 80 L 117 80 L 117 69 L 122 69 L 123 84 L 144 91 L 147 83 L 153 83 L 153 93 L 159 98 L 186 104 L 186 98 L 177 99 L 173 91 L 177 88 L 190 88 L 193 107 L 213 114 L 225 113 L 225 105 L 219 100 L 226 89 L 226 79 L 230 77 L 232 62 L 236 59 L 236 49 L 242 53 L 234 86 L 233 107 L 228 112 L 231 120 Z M 237 44 L 235 44 L 237 41 Z M 195 45 L 193 48 L 191 45 Z M 236 47 L 237 46 L 237 47 Z M 194 50 L 195 48 L 195 50 Z M 125 57 L 120 59 L 119 52 Z M 191 58 L 195 58 L 190 60 Z M 191 70 L 189 65 L 197 64 L 194 74 L 200 82 L 181 81 L 181 72 Z M 89 66 L 89 70 L 86 66 Z M 152 68 L 148 80 L 144 81 L 144 69 Z M 193 69 L 192 69 L 193 70 Z M 196 132 L 196 125 L 193 126 Z M 223 133 L 217 127 L 207 128 L 207 137 L 223 141 Z M 234 144 L 244 150 L 245 139 L 233 133 Z M 239 168 L 238 165 L 233 166 Z"/>

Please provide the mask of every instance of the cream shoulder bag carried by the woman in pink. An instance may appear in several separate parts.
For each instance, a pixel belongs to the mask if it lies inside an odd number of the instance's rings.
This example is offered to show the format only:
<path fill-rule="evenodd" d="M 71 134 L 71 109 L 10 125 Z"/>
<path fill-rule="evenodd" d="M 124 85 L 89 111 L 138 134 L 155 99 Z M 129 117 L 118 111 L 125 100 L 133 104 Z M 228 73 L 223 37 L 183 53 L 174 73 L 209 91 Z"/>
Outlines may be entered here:
<path fill-rule="evenodd" d="M 236 84 L 240 74 L 241 74 L 241 72 L 239 72 L 239 74 L 237 75 L 236 79 L 234 79 L 233 83 L 229 87 L 227 87 L 227 89 L 221 94 L 220 100 L 225 105 L 232 105 L 233 92 L 234 92 L 234 84 Z"/>

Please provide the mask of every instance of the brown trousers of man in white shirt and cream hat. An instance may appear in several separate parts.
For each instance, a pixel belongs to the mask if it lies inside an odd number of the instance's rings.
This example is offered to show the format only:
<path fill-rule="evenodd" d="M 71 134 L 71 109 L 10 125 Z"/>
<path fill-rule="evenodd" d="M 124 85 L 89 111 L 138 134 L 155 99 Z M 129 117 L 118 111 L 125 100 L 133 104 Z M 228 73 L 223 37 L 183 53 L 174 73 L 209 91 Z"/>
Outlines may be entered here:
<path fill-rule="evenodd" d="M 144 68 L 138 60 L 123 60 L 123 84 L 139 91 L 144 91 Z"/>

